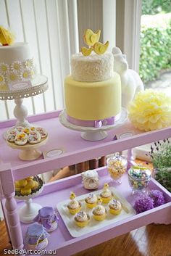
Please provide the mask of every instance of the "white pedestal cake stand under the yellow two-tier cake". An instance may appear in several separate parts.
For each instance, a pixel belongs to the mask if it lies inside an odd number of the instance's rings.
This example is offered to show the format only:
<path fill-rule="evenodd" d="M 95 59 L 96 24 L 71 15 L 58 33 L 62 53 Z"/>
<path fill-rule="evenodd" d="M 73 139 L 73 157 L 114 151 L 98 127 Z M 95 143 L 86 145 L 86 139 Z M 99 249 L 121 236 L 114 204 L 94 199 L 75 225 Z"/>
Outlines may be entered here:
<path fill-rule="evenodd" d="M 100 141 L 102 139 L 107 138 L 107 132 L 112 130 L 123 123 L 126 122 L 128 118 L 128 112 L 124 108 L 122 108 L 122 112 L 120 113 L 120 118 L 115 121 L 114 125 L 104 125 L 100 128 L 93 128 L 93 127 L 83 127 L 79 125 L 74 125 L 67 120 L 66 111 L 62 111 L 59 115 L 59 121 L 67 127 L 74 131 L 81 131 L 81 138 L 85 139 L 86 141 Z"/>

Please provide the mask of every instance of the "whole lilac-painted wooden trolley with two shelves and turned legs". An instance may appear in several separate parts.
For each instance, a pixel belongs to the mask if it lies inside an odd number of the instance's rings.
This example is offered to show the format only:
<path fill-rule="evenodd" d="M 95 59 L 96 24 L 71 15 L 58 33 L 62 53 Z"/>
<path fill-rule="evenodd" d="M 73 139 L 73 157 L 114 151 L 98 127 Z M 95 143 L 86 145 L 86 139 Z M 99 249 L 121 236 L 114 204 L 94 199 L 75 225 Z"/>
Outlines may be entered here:
<path fill-rule="evenodd" d="M 17 209 L 23 205 L 23 202 L 14 199 L 14 181 L 171 137 L 171 128 L 141 133 L 135 130 L 130 123 L 126 123 L 120 128 L 109 131 L 107 138 L 102 141 L 85 141 L 80 138 L 80 132 L 70 131 L 70 129 L 64 128 L 59 123 L 58 115 L 59 112 L 50 112 L 28 117 L 30 122 L 46 128 L 49 132 L 49 141 L 46 146 L 41 146 L 41 151 L 57 148 L 64 149 L 64 154 L 45 160 L 42 156 L 35 161 L 24 162 L 20 160 L 17 150 L 13 150 L 7 146 L 3 139 L 4 132 L 14 125 L 15 120 L 0 123 L 0 199 L 9 232 L 9 240 L 12 242 L 14 249 L 23 248 L 23 238 L 28 228 L 28 224 L 20 223 Z M 133 132 L 134 135 L 114 141 L 115 134 L 126 132 Z M 131 154 L 129 154 L 129 162 L 132 161 L 131 157 Z M 110 182 L 111 179 L 105 167 L 99 168 L 98 173 L 100 176 L 99 189 L 101 189 L 104 183 Z M 81 181 L 82 178 L 78 174 L 46 184 L 43 192 L 34 199 L 34 202 L 41 204 L 42 207 L 52 206 L 56 208 L 58 202 L 69 198 L 70 191 L 74 191 L 77 195 L 88 193 L 88 190 L 83 188 Z M 115 236 L 128 233 L 135 228 L 146 226 L 149 223 L 170 224 L 171 193 L 154 179 L 151 179 L 149 186 L 150 189 L 159 189 L 164 193 L 166 198 L 164 205 L 126 218 L 125 220 L 120 220 L 110 226 L 99 228 L 98 231 L 93 231 L 77 238 L 73 238 L 70 235 L 62 218 L 59 216 L 59 227 L 51 233 L 46 250 L 57 250 L 58 256 L 70 256 L 83 249 L 88 249 L 96 244 L 112 239 Z M 116 185 L 116 189 L 128 202 L 133 204 L 134 197 L 131 196 L 131 189 L 126 173 L 122 177 L 122 184 Z"/>

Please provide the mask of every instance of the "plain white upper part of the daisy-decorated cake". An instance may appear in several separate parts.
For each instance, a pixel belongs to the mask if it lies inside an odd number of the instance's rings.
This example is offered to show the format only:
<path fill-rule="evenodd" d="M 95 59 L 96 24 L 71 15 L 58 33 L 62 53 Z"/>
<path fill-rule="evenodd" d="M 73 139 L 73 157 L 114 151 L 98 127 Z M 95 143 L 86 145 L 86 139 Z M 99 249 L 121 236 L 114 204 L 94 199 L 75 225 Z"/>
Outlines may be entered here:
<path fill-rule="evenodd" d="M 11 46 L 0 46 L 0 62 L 12 65 L 13 62 L 25 62 L 32 59 L 28 43 L 14 43 Z"/>

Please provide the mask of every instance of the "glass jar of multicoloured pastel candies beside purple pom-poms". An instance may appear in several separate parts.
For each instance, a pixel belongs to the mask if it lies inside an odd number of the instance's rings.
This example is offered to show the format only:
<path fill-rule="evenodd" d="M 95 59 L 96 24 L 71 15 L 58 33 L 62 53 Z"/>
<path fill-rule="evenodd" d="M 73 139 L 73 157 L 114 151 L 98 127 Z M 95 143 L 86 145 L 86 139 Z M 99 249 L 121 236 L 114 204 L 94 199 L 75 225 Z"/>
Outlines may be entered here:
<path fill-rule="evenodd" d="M 132 188 L 132 194 L 138 191 L 146 193 L 146 187 L 151 180 L 151 170 L 141 165 L 132 166 L 128 170 L 128 180 Z"/>

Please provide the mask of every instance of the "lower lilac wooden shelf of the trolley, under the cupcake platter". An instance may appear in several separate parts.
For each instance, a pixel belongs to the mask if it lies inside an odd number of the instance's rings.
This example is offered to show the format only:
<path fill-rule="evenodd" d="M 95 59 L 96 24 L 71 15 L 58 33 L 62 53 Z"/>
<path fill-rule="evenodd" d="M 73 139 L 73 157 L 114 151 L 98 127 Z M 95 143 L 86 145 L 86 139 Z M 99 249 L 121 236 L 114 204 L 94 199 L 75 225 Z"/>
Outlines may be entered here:
<path fill-rule="evenodd" d="M 109 183 L 111 181 L 111 178 L 106 168 L 99 168 L 98 173 L 100 176 L 99 189 L 102 189 L 104 183 Z M 57 210 L 57 204 L 68 199 L 68 197 L 70 196 L 70 191 L 74 191 L 75 194 L 80 195 L 89 192 L 88 190 L 83 188 L 83 184 L 81 181 L 82 178 L 80 174 L 78 174 L 56 181 L 52 184 L 46 184 L 44 186 L 42 194 L 33 199 L 33 202 L 42 205 L 42 207 L 51 206 L 54 207 L 55 210 Z M 80 252 L 83 249 L 88 249 L 89 247 L 93 247 L 96 244 L 112 239 L 115 236 L 120 236 L 121 234 L 128 233 L 135 228 L 146 226 L 149 223 L 171 223 L 171 194 L 154 179 L 151 180 L 149 187 L 150 189 L 159 189 L 160 191 L 162 191 L 166 199 L 166 204 L 160 207 L 156 207 L 152 210 L 142 212 L 141 214 L 130 216 L 128 218 L 125 218 L 124 220 L 118 220 L 117 222 L 112 223 L 109 226 L 101 227 L 96 231 L 92 231 L 91 233 L 84 234 L 75 238 L 70 235 L 70 232 L 67 230 L 64 221 L 59 215 L 59 226 L 56 231 L 51 233 L 49 245 L 48 247 L 46 247 L 46 249 L 57 249 L 57 255 L 69 256 L 74 253 Z M 114 186 L 114 188 L 116 188 L 120 195 L 124 197 L 131 205 L 134 204 L 135 197 L 131 196 L 132 190 L 130 189 L 130 186 L 128 184 L 127 173 L 122 176 L 122 184 L 116 185 Z M 22 202 L 18 202 L 17 207 L 21 206 Z M 28 225 L 21 223 L 21 228 L 24 238 Z"/>

